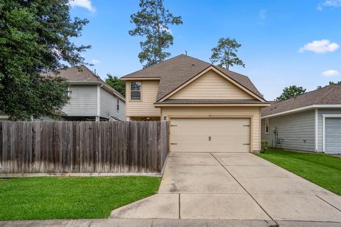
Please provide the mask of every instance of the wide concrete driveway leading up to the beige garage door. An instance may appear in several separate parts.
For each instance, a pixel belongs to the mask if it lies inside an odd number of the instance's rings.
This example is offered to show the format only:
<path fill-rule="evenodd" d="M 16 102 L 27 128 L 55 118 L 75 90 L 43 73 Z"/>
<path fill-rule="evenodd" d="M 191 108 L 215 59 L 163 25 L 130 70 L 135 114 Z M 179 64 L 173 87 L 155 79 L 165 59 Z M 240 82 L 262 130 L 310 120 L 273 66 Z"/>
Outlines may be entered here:
<path fill-rule="evenodd" d="M 111 218 L 341 222 L 341 197 L 251 153 L 170 153 L 158 194 Z"/>

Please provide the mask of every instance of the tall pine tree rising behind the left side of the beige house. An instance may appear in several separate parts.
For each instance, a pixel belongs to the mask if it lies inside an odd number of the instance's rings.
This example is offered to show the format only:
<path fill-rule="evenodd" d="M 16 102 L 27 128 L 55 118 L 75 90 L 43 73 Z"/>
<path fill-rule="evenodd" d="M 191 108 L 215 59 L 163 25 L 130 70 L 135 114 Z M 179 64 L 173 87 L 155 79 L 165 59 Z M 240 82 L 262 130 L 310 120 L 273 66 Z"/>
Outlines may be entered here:
<path fill-rule="evenodd" d="M 140 42 L 140 62 L 144 67 L 162 62 L 171 55 L 165 50 L 173 45 L 173 35 L 169 31 L 169 25 L 183 23 L 181 16 L 173 16 L 163 6 L 163 0 L 141 0 L 140 10 L 131 15 L 131 23 L 136 28 L 129 31 L 129 35 L 146 38 Z"/>

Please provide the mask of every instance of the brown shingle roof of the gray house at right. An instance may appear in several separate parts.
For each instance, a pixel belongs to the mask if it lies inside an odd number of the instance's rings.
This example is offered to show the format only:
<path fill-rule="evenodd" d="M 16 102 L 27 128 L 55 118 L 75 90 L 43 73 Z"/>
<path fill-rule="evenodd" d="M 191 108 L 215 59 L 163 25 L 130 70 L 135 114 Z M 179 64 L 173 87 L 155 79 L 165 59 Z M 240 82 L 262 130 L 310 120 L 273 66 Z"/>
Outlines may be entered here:
<path fill-rule="evenodd" d="M 330 85 L 312 92 L 307 92 L 295 98 L 284 101 L 271 102 L 271 106 L 261 110 L 261 116 L 271 116 L 281 114 L 286 111 L 299 109 L 313 105 L 340 105 L 341 104 L 341 85 Z M 340 106 L 341 108 L 341 106 Z"/>

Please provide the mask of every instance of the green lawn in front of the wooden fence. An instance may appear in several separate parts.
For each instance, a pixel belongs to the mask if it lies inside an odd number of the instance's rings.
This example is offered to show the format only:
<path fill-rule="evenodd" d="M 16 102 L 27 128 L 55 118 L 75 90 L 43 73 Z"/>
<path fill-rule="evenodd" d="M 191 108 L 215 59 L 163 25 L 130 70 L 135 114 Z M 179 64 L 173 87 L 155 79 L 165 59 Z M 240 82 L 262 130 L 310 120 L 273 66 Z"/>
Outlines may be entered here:
<path fill-rule="evenodd" d="M 107 218 L 155 194 L 158 177 L 34 177 L 0 179 L 0 220 Z"/>

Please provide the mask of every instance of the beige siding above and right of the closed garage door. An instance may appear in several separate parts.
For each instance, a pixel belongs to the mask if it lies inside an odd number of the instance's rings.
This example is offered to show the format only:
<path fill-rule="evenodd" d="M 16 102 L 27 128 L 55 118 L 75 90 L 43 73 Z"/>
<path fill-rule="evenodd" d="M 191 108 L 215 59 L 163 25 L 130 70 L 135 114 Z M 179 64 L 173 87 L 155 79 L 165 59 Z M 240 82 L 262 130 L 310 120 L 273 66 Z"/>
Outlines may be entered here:
<path fill-rule="evenodd" d="M 177 118 L 251 118 L 251 150 L 260 150 L 259 107 L 163 107 L 162 116 Z"/>

